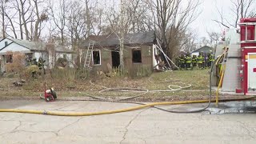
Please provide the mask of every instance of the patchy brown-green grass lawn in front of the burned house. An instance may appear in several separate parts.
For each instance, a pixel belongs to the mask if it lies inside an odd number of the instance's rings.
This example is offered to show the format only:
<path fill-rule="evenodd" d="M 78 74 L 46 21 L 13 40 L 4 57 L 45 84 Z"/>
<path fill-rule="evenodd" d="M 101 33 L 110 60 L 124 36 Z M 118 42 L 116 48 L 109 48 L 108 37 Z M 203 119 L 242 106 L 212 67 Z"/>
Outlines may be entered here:
<path fill-rule="evenodd" d="M 206 70 L 174 70 L 165 72 L 155 72 L 150 77 L 144 78 L 108 78 L 98 75 L 94 78 L 85 80 L 68 80 L 52 79 L 49 76 L 38 78 L 26 82 L 24 86 L 15 87 L 12 85 L 17 78 L 0 78 L 0 98 L 38 98 L 40 94 L 44 94 L 44 82 L 47 86 L 52 86 L 57 91 L 58 97 L 79 97 L 82 98 L 85 94 L 94 96 L 102 96 L 107 98 L 112 97 L 130 97 L 136 94 L 143 94 L 135 100 L 140 101 L 165 101 L 165 100 L 191 100 L 203 99 L 209 95 L 209 69 Z M 93 85 L 90 83 L 93 83 Z M 170 90 L 169 85 L 189 86 L 190 88 L 182 91 L 165 91 L 156 92 L 154 90 Z M 141 89 L 140 92 L 102 92 L 106 88 L 135 88 Z M 175 86 L 170 86 L 175 88 Z"/>

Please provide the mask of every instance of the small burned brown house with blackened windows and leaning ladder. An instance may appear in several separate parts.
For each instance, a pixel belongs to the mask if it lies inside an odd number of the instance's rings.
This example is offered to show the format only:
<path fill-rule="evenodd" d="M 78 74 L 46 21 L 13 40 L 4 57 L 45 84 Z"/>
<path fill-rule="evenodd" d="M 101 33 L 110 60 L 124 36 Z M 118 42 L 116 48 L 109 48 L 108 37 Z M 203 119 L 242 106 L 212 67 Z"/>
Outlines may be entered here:
<path fill-rule="evenodd" d="M 135 70 L 139 67 L 147 67 L 153 70 L 158 64 L 155 57 L 158 54 L 155 42 L 154 31 L 126 34 L 123 50 L 126 69 Z M 92 43 L 94 43 L 93 48 Z M 91 49 L 90 67 L 97 71 L 107 72 L 110 68 L 120 65 L 119 46 L 120 41 L 116 34 L 90 36 L 81 47 L 82 62 L 85 63 L 86 53 Z"/>

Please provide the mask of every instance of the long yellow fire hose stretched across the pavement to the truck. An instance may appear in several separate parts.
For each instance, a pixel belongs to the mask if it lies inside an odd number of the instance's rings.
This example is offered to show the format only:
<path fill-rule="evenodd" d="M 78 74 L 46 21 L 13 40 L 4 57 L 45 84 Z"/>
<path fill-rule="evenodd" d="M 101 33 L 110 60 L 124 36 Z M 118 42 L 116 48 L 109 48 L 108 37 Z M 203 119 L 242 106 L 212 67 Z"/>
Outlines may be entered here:
<path fill-rule="evenodd" d="M 217 59 L 218 60 L 218 59 Z M 98 112 L 66 112 L 66 111 L 48 111 L 48 110 L 18 110 L 18 109 L 0 109 L 0 112 L 10 112 L 10 113 L 26 113 L 26 114 L 45 114 L 45 115 L 56 115 L 56 116 L 91 116 L 91 115 L 101 115 L 101 114 L 115 114 L 115 113 L 122 113 L 132 110 L 141 110 L 145 109 L 147 107 L 155 107 L 159 110 L 164 110 L 167 112 L 172 113 L 196 113 L 196 112 L 202 112 L 203 110 L 206 110 L 211 102 L 215 102 L 215 100 L 212 100 L 212 90 L 211 90 L 211 75 L 213 66 L 210 68 L 210 94 L 209 94 L 209 100 L 195 100 L 195 101 L 182 101 L 182 102 L 154 102 L 150 104 L 144 104 L 139 102 L 134 102 L 137 104 L 140 104 L 141 106 L 133 106 L 125 109 L 120 110 L 106 110 L 106 111 L 98 111 Z M 179 87 L 178 89 L 181 89 Z M 255 97 L 250 97 L 255 98 Z M 234 100 L 245 100 L 249 98 L 234 98 L 234 99 L 223 99 L 221 101 L 234 101 Z M 120 101 L 122 102 L 122 101 Z M 178 111 L 178 110 L 165 110 L 157 106 L 166 106 L 166 105 L 180 105 L 180 104 L 192 104 L 192 103 L 208 103 L 205 107 L 198 109 L 198 110 L 184 110 L 184 111 Z"/>

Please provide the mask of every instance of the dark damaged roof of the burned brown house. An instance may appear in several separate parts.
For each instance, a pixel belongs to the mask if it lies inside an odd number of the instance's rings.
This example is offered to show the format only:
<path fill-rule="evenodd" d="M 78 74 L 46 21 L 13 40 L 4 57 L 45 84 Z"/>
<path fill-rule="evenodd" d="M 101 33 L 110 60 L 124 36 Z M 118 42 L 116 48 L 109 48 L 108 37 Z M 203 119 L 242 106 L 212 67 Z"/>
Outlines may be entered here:
<path fill-rule="evenodd" d="M 152 44 L 155 40 L 154 31 L 148 31 L 143 33 L 126 34 L 124 38 L 124 45 L 142 45 Z M 91 35 L 87 38 L 86 42 L 82 46 L 89 46 L 90 41 L 94 41 L 94 46 L 118 46 L 120 45 L 119 36 L 117 34 L 109 35 Z"/>

